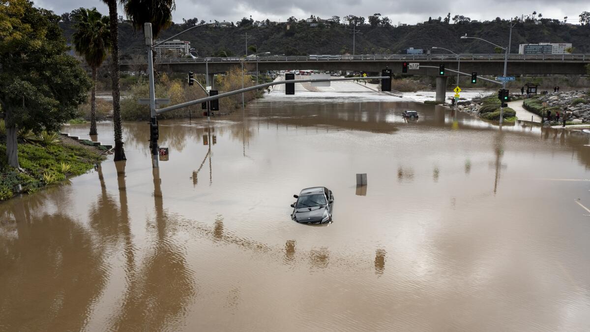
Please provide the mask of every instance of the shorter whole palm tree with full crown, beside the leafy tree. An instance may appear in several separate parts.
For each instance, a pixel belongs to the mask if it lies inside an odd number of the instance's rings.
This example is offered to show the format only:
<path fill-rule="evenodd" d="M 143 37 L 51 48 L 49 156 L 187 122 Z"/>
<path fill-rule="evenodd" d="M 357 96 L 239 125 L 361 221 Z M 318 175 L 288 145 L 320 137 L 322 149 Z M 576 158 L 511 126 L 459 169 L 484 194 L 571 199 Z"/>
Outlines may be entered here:
<path fill-rule="evenodd" d="M 74 49 L 86 58 L 92 68 L 92 93 L 90 97 L 90 135 L 96 132 L 96 76 L 100 65 L 111 48 L 109 18 L 100 14 L 96 8 L 82 9 L 78 12 L 76 32 L 72 35 Z"/>

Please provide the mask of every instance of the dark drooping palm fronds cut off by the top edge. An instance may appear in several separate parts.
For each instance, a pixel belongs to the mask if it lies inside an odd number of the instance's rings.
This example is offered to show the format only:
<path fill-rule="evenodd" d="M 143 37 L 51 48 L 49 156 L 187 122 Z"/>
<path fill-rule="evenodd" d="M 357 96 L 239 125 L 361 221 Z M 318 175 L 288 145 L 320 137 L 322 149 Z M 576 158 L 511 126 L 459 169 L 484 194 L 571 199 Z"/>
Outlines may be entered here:
<path fill-rule="evenodd" d="M 120 0 L 127 18 L 135 30 L 142 29 L 143 24 L 152 24 L 153 38 L 158 37 L 162 29 L 172 25 L 172 11 L 176 9 L 174 0 Z"/>

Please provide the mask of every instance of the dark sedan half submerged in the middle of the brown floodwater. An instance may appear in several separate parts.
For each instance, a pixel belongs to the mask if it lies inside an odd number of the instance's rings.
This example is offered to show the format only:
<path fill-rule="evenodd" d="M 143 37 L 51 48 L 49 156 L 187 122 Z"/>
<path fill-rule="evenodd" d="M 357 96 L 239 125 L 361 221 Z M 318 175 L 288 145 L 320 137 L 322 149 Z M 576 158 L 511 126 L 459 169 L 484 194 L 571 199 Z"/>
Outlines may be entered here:
<path fill-rule="evenodd" d="M 334 195 L 326 187 L 313 187 L 301 190 L 297 201 L 291 204 L 291 219 L 298 223 L 323 224 L 332 222 Z"/>

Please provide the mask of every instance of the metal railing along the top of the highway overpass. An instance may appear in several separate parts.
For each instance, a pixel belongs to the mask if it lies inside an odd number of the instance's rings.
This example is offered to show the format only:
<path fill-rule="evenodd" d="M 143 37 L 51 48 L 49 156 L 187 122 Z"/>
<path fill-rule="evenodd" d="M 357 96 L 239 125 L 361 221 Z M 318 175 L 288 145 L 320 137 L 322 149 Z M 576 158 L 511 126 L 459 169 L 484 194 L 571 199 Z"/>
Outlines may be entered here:
<path fill-rule="evenodd" d="M 504 61 L 504 54 L 459 54 L 461 61 Z M 273 63 L 273 62 L 354 62 L 354 61 L 457 61 L 453 54 L 372 54 L 359 56 L 266 56 L 266 57 L 204 57 L 204 58 L 156 58 L 157 64 L 182 63 Z M 590 62 L 590 54 L 509 54 L 508 61 L 571 61 Z M 120 64 L 146 64 L 145 59 L 119 60 Z"/>

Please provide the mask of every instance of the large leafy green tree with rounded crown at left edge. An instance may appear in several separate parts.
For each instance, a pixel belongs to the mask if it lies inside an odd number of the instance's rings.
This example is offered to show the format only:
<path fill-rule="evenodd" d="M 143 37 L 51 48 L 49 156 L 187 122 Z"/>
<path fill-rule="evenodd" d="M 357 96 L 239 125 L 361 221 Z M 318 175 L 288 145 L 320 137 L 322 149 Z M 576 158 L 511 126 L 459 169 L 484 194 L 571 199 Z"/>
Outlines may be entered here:
<path fill-rule="evenodd" d="M 67 54 L 61 17 L 27 0 L 0 0 L 0 105 L 6 159 L 19 168 L 18 130 L 57 131 L 78 113 L 90 80 Z"/>

